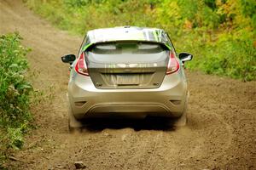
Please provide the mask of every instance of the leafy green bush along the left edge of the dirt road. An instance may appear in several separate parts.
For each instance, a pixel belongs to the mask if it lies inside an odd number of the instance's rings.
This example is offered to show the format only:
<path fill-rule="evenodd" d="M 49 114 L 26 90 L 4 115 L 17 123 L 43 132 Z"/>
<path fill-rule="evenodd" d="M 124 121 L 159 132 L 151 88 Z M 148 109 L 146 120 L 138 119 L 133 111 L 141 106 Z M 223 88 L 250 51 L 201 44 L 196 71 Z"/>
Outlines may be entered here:
<path fill-rule="evenodd" d="M 26 81 L 29 49 L 15 32 L 0 36 L 0 160 L 9 148 L 19 149 L 29 126 L 32 86 Z"/>

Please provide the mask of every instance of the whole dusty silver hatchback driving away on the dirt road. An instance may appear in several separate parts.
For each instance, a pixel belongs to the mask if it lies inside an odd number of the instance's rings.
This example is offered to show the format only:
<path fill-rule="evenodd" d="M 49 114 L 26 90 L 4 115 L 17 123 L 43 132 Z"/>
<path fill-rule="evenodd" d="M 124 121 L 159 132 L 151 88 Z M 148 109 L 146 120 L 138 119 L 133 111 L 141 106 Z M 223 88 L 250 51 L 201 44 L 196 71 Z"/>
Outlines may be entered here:
<path fill-rule="evenodd" d="M 156 28 L 122 26 L 88 31 L 70 64 L 70 129 L 97 117 L 165 116 L 186 123 L 188 90 L 183 65 L 168 34 Z"/>

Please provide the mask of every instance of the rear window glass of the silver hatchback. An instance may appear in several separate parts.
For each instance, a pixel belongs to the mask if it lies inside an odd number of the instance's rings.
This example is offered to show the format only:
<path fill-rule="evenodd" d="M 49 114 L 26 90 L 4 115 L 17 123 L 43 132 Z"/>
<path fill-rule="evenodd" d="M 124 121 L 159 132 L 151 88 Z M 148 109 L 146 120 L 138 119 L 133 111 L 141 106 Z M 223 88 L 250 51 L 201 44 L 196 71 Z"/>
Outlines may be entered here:
<path fill-rule="evenodd" d="M 96 44 L 94 54 L 157 54 L 165 49 L 161 44 L 148 42 L 111 42 Z"/>

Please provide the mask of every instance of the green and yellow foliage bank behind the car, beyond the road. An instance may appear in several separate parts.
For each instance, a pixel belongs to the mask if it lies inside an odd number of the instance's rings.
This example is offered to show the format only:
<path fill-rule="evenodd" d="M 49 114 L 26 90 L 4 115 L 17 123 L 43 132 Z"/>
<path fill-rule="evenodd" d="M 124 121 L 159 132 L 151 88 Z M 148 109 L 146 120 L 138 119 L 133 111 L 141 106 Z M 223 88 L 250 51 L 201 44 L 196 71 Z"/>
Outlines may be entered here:
<path fill-rule="evenodd" d="M 256 80 L 255 0 L 26 0 L 61 29 L 84 35 L 111 26 L 160 27 L 177 51 L 195 55 L 188 68 Z"/>

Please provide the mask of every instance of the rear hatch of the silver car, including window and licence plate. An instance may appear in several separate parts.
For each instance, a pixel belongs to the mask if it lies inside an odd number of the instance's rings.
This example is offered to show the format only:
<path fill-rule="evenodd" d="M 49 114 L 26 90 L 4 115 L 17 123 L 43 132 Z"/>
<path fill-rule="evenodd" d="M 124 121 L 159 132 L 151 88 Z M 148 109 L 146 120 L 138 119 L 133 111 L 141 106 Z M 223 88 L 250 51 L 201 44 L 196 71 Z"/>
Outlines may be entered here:
<path fill-rule="evenodd" d="M 159 88 L 169 51 L 160 43 L 108 42 L 85 54 L 96 88 Z"/>

